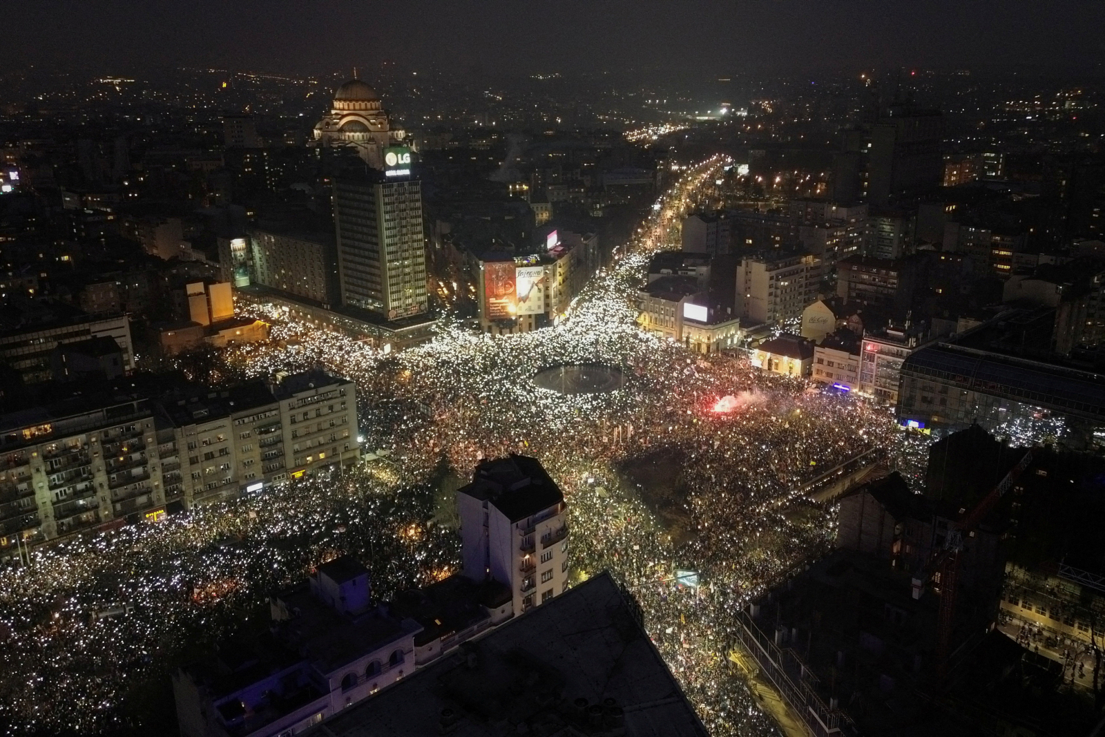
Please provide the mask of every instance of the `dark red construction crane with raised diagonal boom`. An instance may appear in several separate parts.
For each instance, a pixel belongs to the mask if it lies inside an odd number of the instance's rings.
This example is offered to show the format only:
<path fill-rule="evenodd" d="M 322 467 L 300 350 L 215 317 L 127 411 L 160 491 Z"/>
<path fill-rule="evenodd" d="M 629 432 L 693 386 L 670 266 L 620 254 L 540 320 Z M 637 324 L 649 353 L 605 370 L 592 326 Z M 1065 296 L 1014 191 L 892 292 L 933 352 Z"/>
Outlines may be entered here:
<path fill-rule="evenodd" d="M 956 619 L 956 586 L 959 578 L 959 554 L 962 552 L 964 537 L 975 533 L 979 523 L 990 514 L 998 501 L 1006 495 L 1009 487 L 1029 467 L 1030 463 L 1032 463 L 1031 450 L 969 512 L 960 509 L 961 518 L 948 526 L 944 547 L 913 579 L 913 598 L 919 599 L 925 585 L 933 579 L 934 575 L 939 573 L 940 610 L 936 631 L 936 667 L 940 676 L 946 673 L 950 654 L 948 651 L 951 646 L 951 630 Z"/>

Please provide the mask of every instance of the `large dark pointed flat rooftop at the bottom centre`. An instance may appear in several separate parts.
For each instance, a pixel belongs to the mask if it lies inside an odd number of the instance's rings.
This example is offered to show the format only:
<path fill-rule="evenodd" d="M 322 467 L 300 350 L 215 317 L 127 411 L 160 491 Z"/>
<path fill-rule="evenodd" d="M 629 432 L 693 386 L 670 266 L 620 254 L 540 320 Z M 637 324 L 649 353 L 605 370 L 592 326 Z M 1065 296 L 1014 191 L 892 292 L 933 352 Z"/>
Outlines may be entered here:
<path fill-rule="evenodd" d="M 706 735 L 635 606 L 603 572 L 308 734 L 567 735 L 621 725 L 628 737 Z"/>

